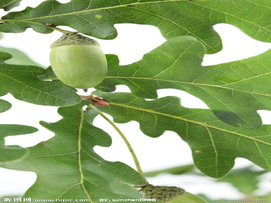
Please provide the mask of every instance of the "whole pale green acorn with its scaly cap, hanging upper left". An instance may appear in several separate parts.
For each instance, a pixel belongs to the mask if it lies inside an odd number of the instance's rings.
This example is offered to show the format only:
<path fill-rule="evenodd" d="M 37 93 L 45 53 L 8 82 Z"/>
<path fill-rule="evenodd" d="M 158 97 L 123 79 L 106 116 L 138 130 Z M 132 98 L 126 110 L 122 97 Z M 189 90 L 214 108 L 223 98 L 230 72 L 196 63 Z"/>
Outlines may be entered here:
<path fill-rule="evenodd" d="M 97 86 L 107 73 L 100 44 L 78 33 L 64 33 L 51 45 L 50 63 L 60 81 L 79 89 Z"/>

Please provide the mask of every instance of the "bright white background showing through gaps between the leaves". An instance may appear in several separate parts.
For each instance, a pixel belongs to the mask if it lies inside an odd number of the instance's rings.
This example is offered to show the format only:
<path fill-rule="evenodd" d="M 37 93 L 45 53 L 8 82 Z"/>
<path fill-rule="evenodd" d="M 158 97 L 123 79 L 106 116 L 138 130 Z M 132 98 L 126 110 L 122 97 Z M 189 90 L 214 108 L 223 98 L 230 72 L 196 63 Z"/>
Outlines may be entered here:
<path fill-rule="evenodd" d="M 60 0 L 59 0 L 60 1 Z M 21 5 L 11 11 L 23 10 L 26 6 L 35 7 L 41 0 L 24 0 Z M 68 0 L 62 0 L 66 3 Z M 1 16 L 5 13 L 1 11 Z M 105 54 L 117 54 L 120 58 L 120 65 L 130 64 L 142 58 L 143 54 L 161 45 L 166 39 L 160 31 L 153 26 L 136 24 L 116 24 L 118 37 L 113 40 L 97 39 Z M 65 26 L 62 29 L 72 30 Z M 202 65 L 219 64 L 229 61 L 244 59 L 261 54 L 271 48 L 271 44 L 256 41 L 245 35 L 234 26 L 228 24 L 217 24 L 214 29 L 220 34 L 223 42 L 223 50 L 217 54 L 205 55 Z M 24 33 L 4 34 L 0 40 L 0 46 L 12 47 L 26 53 L 32 60 L 44 67 L 49 66 L 50 44 L 61 36 L 60 32 L 54 31 L 51 34 L 39 34 L 32 29 L 27 29 Z M 94 90 L 94 89 L 93 89 Z M 82 90 L 78 90 L 83 94 Z M 90 92 L 92 90 L 89 90 Z M 126 86 L 118 86 L 117 91 L 130 90 Z M 180 90 L 163 89 L 158 90 L 159 97 L 173 95 L 181 97 L 181 105 L 188 108 L 207 108 L 200 99 Z M 57 107 L 39 106 L 18 101 L 8 94 L 2 96 L 12 103 L 12 108 L 0 114 L 0 123 L 24 124 L 37 127 L 38 132 L 29 135 L 19 135 L 6 137 L 6 145 L 20 145 L 22 147 L 34 146 L 41 141 L 45 141 L 54 134 L 39 125 L 40 120 L 46 122 L 56 122 L 61 117 L 57 114 Z M 271 112 L 260 110 L 264 124 L 271 124 Z M 109 116 L 110 117 L 110 116 Z M 111 147 L 98 147 L 95 151 L 109 161 L 121 161 L 135 168 L 133 160 L 125 147 L 124 142 L 114 129 L 102 118 L 95 119 L 95 125 L 108 132 L 113 139 Z M 150 138 L 139 130 L 137 122 L 127 124 L 117 124 L 127 136 L 133 146 L 144 172 L 163 169 L 167 167 L 191 164 L 191 150 L 175 132 L 165 132 L 159 138 Z M 249 166 L 252 163 L 246 159 L 237 158 L 234 168 Z M 254 167 L 260 170 L 259 167 Z M 266 173 L 260 177 L 260 190 L 258 195 L 263 195 L 270 188 L 271 173 Z M 13 194 L 24 194 L 24 192 L 35 182 L 36 174 L 33 172 L 21 172 L 0 168 L 0 197 Z M 162 174 L 149 178 L 149 182 L 155 185 L 168 185 L 183 187 L 192 193 L 204 193 L 211 198 L 242 198 L 244 195 L 234 189 L 228 183 L 216 183 L 214 179 L 208 177 L 196 177 L 193 175 L 181 175 L 176 177 L 169 174 Z M 257 195 L 256 194 L 256 195 Z"/>

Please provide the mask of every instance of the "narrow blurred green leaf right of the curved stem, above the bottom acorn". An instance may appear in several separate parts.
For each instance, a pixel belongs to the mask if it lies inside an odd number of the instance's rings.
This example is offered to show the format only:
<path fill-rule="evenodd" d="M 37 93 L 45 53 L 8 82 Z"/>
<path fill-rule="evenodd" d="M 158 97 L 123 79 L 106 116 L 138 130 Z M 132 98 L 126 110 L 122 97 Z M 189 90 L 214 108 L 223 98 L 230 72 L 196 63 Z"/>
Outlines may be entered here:
<path fill-rule="evenodd" d="M 173 175 L 179 175 L 179 174 L 184 174 L 187 172 L 190 172 L 192 169 L 194 169 L 194 165 L 186 165 L 186 166 L 178 166 L 178 167 L 172 167 L 172 168 L 167 168 L 167 169 L 162 169 L 162 170 L 157 170 L 157 171 L 151 171 L 151 172 L 146 172 L 144 175 L 146 177 L 153 177 L 162 173 L 169 173 Z"/>

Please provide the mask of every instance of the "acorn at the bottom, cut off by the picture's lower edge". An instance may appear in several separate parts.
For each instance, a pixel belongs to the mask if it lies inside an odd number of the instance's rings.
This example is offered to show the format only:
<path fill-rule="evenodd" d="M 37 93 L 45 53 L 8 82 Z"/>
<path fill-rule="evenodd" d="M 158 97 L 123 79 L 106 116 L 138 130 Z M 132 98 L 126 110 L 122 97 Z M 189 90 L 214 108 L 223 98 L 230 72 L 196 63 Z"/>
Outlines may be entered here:
<path fill-rule="evenodd" d="M 154 186 L 147 184 L 139 192 L 143 193 L 144 198 L 156 199 L 157 202 L 165 203 L 207 203 L 200 197 L 186 192 L 179 187 Z"/>

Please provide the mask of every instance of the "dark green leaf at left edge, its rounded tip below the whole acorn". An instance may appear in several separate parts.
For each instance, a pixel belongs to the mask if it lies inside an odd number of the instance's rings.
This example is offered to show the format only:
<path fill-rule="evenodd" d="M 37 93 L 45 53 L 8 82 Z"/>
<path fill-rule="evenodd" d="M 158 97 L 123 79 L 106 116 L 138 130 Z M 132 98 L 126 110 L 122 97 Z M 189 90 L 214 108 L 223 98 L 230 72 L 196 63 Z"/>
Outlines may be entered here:
<path fill-rule="evenodd" d="M 81 101 L 76 89 L 59 82 L 39 80 L 37 76 L 46 73 L 43 68 L 4 62 L 11 58 L 11 54 L 0 52 L 0 96 L 10 92 L 16 99 L 48 106 L 70 106 Z"/>

